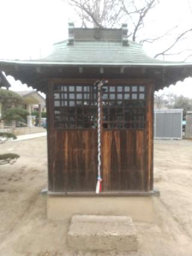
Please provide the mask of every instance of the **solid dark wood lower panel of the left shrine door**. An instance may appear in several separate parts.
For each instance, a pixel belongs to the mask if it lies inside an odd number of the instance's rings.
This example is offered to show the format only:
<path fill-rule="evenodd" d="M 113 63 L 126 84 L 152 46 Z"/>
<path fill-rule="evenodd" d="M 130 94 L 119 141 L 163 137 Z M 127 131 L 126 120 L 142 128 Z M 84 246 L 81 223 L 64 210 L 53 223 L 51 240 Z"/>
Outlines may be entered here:
<path fill-rule="evenodd" d="M 54 130 L 50 191 L 93 191 L 97 180 L 97 130 Z"/>

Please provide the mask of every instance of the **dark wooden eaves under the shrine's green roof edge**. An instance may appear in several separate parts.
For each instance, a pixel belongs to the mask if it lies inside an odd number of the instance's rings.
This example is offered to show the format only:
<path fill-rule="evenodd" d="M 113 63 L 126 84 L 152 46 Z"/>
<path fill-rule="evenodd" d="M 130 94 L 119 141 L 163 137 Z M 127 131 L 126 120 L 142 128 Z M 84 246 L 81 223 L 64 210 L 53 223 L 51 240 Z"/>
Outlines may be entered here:
<path fill-rule="evenodd" d="M 163 89 L 192 76 L 192 66 L 43 66 L 10 64 L 2 65 L 0 70 L 13 76 L 23 84 L 46 93 L 49 78 L 145 78 L 154 79 L 155 90 Z"/>

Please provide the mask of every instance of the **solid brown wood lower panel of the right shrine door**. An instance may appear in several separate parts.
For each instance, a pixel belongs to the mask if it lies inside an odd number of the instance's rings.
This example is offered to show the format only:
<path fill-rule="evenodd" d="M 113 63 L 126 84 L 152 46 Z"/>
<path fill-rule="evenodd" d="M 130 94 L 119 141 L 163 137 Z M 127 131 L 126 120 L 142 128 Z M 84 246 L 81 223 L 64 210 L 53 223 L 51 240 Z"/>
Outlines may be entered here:
<path fill-rule="evenodd" d="M 105 130 L 102 141 L 104 190 L 145 190 L 143 130 Z"/>

